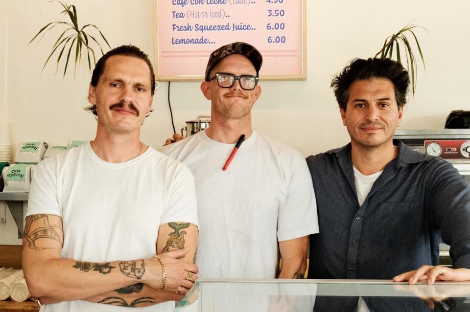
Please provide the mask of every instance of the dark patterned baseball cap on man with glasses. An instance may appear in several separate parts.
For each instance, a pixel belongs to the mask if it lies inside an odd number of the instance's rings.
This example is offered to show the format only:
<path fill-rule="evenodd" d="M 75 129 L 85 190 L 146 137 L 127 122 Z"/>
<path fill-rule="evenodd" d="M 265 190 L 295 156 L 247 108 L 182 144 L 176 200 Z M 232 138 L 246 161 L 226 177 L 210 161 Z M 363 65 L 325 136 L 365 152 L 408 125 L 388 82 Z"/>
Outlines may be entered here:
<path fill-rule="evenodd" d="M 256 75 L 258 76 L 259 69 L 263 64 L 261 53 L 259 53 L 253 45 L 249 45 L 244 42 L 234 42 L 232 44 L 223 45 L 211 53 L 206 67 L 206 81 L 209 81 L 209 74 L 211 73 L 212 68 L 214 68 L 220 60 L 230 54 L 241 54 L 246 56 L 255 67 Z"/>

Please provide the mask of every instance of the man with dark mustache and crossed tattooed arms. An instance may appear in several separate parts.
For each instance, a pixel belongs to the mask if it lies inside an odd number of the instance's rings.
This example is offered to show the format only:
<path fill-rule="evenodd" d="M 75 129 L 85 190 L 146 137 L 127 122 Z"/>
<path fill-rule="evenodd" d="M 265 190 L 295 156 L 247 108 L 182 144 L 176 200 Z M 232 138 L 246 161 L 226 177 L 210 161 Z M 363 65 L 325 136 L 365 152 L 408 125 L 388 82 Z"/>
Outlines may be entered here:
<path fill-rule="evenodd" d="M 197 279 L 194 179 L 140 141 L 154 91 L 145 53 L 109 51 L 89 86 L 96 137 L 37 166 L 23 269 L 41 311 L 172 311 Z"/>

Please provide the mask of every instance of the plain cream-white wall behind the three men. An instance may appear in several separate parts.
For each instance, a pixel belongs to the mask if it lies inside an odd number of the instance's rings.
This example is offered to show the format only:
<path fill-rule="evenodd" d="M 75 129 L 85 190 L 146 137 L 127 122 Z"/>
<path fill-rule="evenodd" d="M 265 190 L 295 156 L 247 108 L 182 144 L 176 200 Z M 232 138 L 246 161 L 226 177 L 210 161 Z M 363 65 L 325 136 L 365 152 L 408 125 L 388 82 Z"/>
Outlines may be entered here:
<path fill-rule="evenodd" d="M 80 24 L 95 23 L 112 46 L 137 45 L 153 60 L 152 0 L 71 3 L 77 6 Z M 27 45 L 43 25 L 61 19 L 59 12 L 57 2 L 0 0 L 0 24 L 7 21 L 8 43 L 4 49 L 0 40 L 0 70 L 6 72 L 5 81 L 0 73 L 0 114 L 6 115 L 14 150 L 22 141 L 94 138 L 94 118 L 82 109 L 90 81 L 86 63 L 75 78 L 71 73 L 64 79 L 61 72 L 53 75 L 54 60 L 40 75 L 58 32 Z M 305 156 L 346 144 L 348 135 L 329 89 L 332 75 L 354 57 L 374 56 L 386 36 L 409 22 L 423 25 L 430 35 L 417 31 L 426 71 L 419 70 L 417 94 L 407 105 L 401 129 L 443 128 L 451 110 L 470 109 L 468 12 L 470 2 L 465 0 L 397 0 L 393 5 L 307 0 L 307 80 L 261 82 L 262 94 L 253 110 L 255 129 Z M 6 85 L 5 97 L 1 84 Z M 143 142 L 154 147 L 172 132 L 166 92 L 167 83 L 159 83 L 155 111 L 142 128 Z M 171 83 L 171 103 L 177 129 L 185 120 L 210 112 L 210 103 L 195 82 Z"/>

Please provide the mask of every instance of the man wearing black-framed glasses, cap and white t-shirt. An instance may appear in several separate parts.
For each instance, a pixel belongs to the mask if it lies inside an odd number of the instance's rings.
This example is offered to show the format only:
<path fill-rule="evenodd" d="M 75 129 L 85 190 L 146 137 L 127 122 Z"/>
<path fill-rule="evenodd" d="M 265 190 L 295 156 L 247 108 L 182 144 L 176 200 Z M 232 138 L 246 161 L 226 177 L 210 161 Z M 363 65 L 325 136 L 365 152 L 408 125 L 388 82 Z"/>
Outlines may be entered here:
<path fill-rule="evenodd" d="M 205 278 L 303 278 L 308 235 L 318 233 L 304 157 L 252 129 L 261 64 L 259 51 L 246 43 L 213 51 L 201 84 L 211 100 L 211 126 L 161 150 L 194 175 L 201 228 L 196 263 Z"/>

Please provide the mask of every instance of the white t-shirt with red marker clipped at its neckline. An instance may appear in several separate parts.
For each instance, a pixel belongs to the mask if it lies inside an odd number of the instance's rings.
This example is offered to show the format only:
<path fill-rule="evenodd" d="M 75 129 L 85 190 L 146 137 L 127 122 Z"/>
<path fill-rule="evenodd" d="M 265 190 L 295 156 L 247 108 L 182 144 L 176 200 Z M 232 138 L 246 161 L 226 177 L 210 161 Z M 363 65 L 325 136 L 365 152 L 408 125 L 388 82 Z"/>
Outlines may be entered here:
<path fill-rule="evenodd" d="M 312 178 L 299 152 L 256 132 L 222 171 L 234 146 L 202 131 L 161 151 L 194 175 L 199 276 L 275 278 L 278 241 L 319 231 Z"/>

